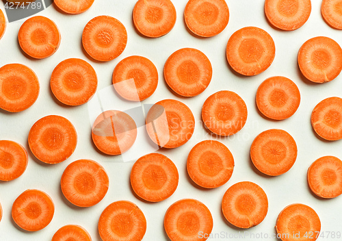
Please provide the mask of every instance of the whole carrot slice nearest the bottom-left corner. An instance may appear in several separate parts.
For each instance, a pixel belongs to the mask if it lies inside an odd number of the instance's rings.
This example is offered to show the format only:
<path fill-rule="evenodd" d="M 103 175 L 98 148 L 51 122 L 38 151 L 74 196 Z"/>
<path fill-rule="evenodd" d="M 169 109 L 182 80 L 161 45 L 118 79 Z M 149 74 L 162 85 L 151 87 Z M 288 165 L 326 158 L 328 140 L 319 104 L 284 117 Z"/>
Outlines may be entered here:
<path fill-rule="evenodd" d="M 55 213 L 51 197 L 40 190 L 26 190 L 12 206 L 14 222 L 26 231 L 38 231 L 47 227 Z"/>

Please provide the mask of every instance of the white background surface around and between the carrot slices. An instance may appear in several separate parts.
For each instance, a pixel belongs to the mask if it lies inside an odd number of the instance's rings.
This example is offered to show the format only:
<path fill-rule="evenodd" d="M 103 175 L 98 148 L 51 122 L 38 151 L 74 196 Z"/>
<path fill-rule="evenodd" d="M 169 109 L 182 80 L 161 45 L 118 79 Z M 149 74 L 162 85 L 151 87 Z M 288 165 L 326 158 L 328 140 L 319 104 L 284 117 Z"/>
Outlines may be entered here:
<path fill-rule="evenodd" d="M 101 240 L 97 232 L 98 217 L 110 203 L 118 200 L 129 200 L 136 203 L 144 212 L 147 219 L 147 231 L 144 240 L 168 240 L 163 231 L 163 216 L 168 207 L 184 198 L 198 199 L 205 203 L 213 215 L 213 233 L 221 231 L 238 234 L 240 229 L 229 227 L 224 221 L 221 212 L 221 200 L 228 187 L 238 181 L 254 181 L 267 193 L 269 199 L 268 214 L 260 225 L 248 229 L 252 233 L 274 233 L 274 225 L 279 212 L 291 203 L 304 203 L 315 209 L 321 218 L 322 231 L 341 231 L 341 199 L 317 199 L 308 189 L 306 170 L 318 157 L 323 155 L 336 155 L 342 158 L 342 141 L 324 142 L 319 140 L 311 128 L 310 116 L 313 107 L 319 101 L 332 96 L 342 97 L 342 76 L 327 84 L 311 84 L 300 75 L 297 66 L 297 53 L 300 46 L 315 36 L 328 36 L 342 45 L 341 31 L 331 29 L 321 17 L 321 1 L 313 0 L 313 9 L 308 22 L 298 30 L 287 32 L 272 28 L 266 21 L 261 0 L 230 0 L 227 1 L 231 18 L 226 29 L 213 38 L 196 38 L 189 34 L 183 21 L 185 0 L 173 0 L 177 11 L 177 21 L 174 29 L 161 38 L 142 38 L 133 27 L 132 10 L 135 0 L 95 0 L 90 10 L 76 16 L 57 12 L 54 6 L 41 12 L 41 15 L 51 18 L 60 28 L 62 43 L 60 49 L 45 60 L 30 60 L 26 58 L 17 42 L 18 29 L 23 21 L 10 23 L 5 35 L 0 40 L 0 66 L 18 62 L 34 69 L 40 80 L 40 96 L 37 102 L 28 110 L 18 114 L 0 112 L 0 139 L 19 142 L 25 146 L 29 153 L 29 164 L 25 173 L 14 181 L 0 183 L 0 202 L 3 206 L 3 219 L 0 223 L 0 240 L 51 240 L 57 229 L 63 225 L 75 224 L 85 227 L 93 240 Z M 1 3 L 0 3 L 1 5 Z M 1 8 L 3 6 L 1 5 Z M 81 33 L 83 27 L 91 18 L 107 14 L 118 18 L 128 32 L 127 47 L 116 60 L 107 63 L 98 63 L 89 60 L 81 47 Z M 234 31 L 246 26 L 256 26 L 265 29 L 276 43 L 276 58 L 270 68 L 255 77 L 240 77 L 235 75 L 226 61 L 226 42 Z M 213 65 L 213 79 L 211 84 L 198 97 L 179 98 L 168 88 L 163 80 L 163 64 L 168 56 L 182 47 L 194 47 L 204 52 Z M 161 150 L 170 157 L 179 170 L 179 187 L 166 201 L 161 203 L 144 203 L 135 198 L 129 184 L 129 173 L 133 162 L 122 162 L 121 157 L 109 157 L 98 153 L 92 144 L 90 136 L 90 118 L 88 105 L 79 107 L 65 107 L 52 97 L 49 88 L 49 77 L 53 68 L 66 58 L 82 58 L 94 66 L 98 75 L 98 91 L 110 86 L 111 73 L 116 64 L 129 55 L 142 55 L 155 63 L 159 71 L 159 85 L 152 97 L 144 103 L 155 103 L 161 99 L 179 99 L 187 104 L 198 125 L 194 136 L 182 147 L 173 150 Z M 302 103 L 298 112 L 286 121 L 267 121 L 261 117 L 255 105 L 254 97 L 257 87 L 267 77 L 284 75 L 298 85 L 302 95 Z M 187 154 L 194 145 L 201 140 L 211 138 L 210 134 L 200 124 L 200 110 L 202 103 L 209 95 L 218 90 L 232 90 L 237 92 L 248 106 L 248 121 L 244 129 L 237 135 L 221 138 L 231 150 L 235 158 L 233 177 L 224 186 L 215 190 L 202 190 L 196 188 L 189 181 L 186 173 Z M 114 92 L 109 92 L 113 94 Z M 129 108 L 137 104 L 127 103 Z M 125 107 L 126 107 L 125 105 Z M 114 103 L 114 106 L 122 107 Z M 53 166 L 44 165 L 34 158 L 27 145 L 27 135 L 31 125 L 39 118 L 49 114 L 59 114 L 68 118 L 76 127 L 78 134 L 77 149 L 73 155 L 63 162 Z M 298 159 L 288 173 L 280 177 L 264 177 L 255 171 L 250 157 L 249 149 L 252 140 L 261 131 L 271 128 L 280 128 L 288 131 L 298 144 Z M 218 140 L 217 138 L 214 138 Z M 103 201 L 94 207 L 77 208 L 66 199 L 60 190 L 60 177 L 64 168 L 70 162 L 88 158 L 102 164 L 109 173 L 109 191 Z M 11 207 L 16 197 L 24 190 L 38 188 L 47 192 L 55 202 L 55 216 L 51 224 L 34 233 L 27 233 L 17 229 L 11 218 Z M 244 231 L 244 230 L 241 230 Z M 228 240 L 228 239 L 209 239 Z M 234 240 L 256 240 L 252 238 L 235 238 Z M 260 239 L 264 240 L 264 239 Z M 274 240 L 269 238 L 268 240 Z M 323 240 L 319 238 L 319 240 Z M 328 239 L 333 240 L 333 239 Z"/>

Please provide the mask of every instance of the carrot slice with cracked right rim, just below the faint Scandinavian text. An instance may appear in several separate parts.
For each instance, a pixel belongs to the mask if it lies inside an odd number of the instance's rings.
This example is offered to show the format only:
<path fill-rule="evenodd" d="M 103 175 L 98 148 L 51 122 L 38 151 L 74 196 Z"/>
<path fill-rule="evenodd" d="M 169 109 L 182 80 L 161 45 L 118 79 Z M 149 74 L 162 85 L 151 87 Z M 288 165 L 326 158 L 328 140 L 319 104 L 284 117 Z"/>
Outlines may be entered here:
<path fill-rule="evenodd" d="M 218 188 L 233 174 L 234 157 L 229 149 L 216 140 L 204 140 L 189 153 L 187 173 L 202 188 Z"/>

